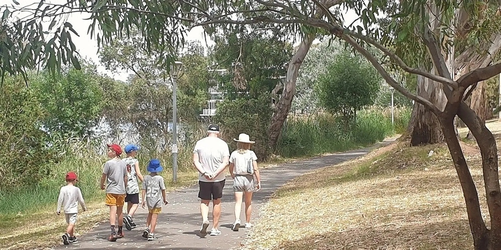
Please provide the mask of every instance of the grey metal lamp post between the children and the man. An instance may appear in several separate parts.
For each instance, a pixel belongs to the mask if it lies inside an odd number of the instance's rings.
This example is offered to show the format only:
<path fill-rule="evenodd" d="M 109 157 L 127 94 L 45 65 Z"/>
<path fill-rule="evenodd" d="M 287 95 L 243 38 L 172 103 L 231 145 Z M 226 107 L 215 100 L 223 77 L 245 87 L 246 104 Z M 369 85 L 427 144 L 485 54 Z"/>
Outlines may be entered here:
<path fill-rule="evenodd" d="M 175 61 L 171 65 L 170 79 L 172 81 L 172 181 L 177 181 L 177 74 L 183 65 L 180 61 Z"/>

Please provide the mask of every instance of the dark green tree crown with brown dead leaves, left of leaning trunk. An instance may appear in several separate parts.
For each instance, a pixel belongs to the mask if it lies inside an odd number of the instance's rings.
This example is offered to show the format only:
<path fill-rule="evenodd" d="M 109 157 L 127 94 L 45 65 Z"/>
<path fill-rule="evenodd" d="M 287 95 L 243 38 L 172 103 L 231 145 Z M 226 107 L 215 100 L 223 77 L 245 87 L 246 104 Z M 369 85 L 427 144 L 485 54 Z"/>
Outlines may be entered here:
<path fill-rule="evenodd" d="M 290 43 L 259 30 L 230 30 L 215 42 L 212 59 L 230 71 L 231 84 L 223 86 L 228 98 L 271 92 L 293 52 Z"/>

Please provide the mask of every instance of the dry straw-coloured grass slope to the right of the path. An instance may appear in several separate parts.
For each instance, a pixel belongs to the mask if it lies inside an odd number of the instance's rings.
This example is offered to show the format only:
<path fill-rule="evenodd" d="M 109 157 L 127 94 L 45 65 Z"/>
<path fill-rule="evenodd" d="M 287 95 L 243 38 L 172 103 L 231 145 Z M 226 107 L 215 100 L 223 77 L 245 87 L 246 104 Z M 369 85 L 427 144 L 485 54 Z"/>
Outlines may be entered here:
<path fill-rule="evenodd" d="M 490 127 L 494 133 L 501 130 L 499 124 Z M 461 145 L 482 212 L 488 214 L 479 151 Z M 430 150 L 434 153 L 428 157 Z M 261 208 L 243 243 L 244 249 L 254 250 L 473 248 L 447 147 L 406 148 L 400 143 L 283 185 Z"/>

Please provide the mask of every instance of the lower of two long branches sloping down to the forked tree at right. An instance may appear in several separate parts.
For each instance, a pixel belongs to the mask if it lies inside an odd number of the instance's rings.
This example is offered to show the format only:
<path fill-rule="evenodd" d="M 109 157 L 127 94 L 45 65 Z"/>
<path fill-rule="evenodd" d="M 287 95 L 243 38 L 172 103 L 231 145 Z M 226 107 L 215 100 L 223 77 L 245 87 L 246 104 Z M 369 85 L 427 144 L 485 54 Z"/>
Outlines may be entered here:
<path fill-rule="evenodd" d="M 391 77 L 388 72 L 381 66 L 381 64 L 377 61 L 377 59 L 365 48 L 363 48 L 357 41 L 355 41 L 351 36 L 343 34 L 342 39 L 346 40 L 350 43 L 355 49 L 358 50 L 372 65 L 376 68 L 376 70 L 381 74 L 383 79 L 392 87 L 394 87 L 397 91 L 405 95 L 406 97 L 415 100 L 418 103 L 423 104 L 425 107 L 429 108 L 435 115 L 440 116 L 442 111 L 438 109 L 431 101 L 419 96 L 415 95 L 407 89 L 405 89 L 402 85 L 400 85 L 393 77 Z"/>

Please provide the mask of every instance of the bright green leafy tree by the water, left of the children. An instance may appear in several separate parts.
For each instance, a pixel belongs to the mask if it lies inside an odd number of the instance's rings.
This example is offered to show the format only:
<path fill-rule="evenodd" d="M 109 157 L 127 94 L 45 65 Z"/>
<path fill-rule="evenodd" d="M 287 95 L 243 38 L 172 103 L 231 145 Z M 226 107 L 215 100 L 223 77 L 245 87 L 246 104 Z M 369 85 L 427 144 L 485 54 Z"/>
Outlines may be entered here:
<path fill-rule="evenodd" d="M 31 87 L 38 94 L 48 115 L 44 128 L 62 138 L 90 135 L 102 112 L 100 76 L 95 67 L 70 68 L 55 76 L 45 71 L 33 77 Z"/>

